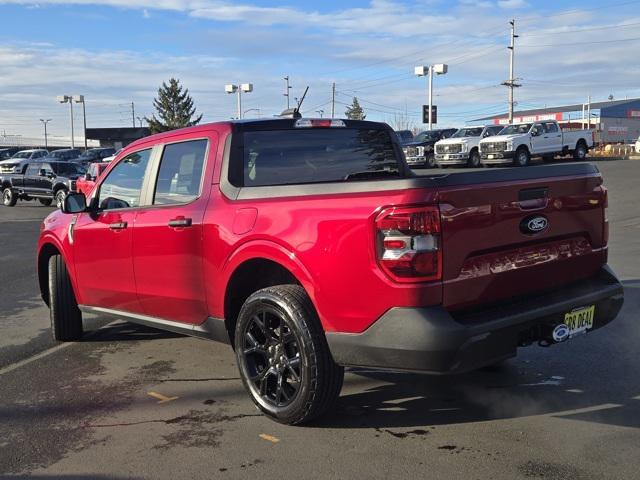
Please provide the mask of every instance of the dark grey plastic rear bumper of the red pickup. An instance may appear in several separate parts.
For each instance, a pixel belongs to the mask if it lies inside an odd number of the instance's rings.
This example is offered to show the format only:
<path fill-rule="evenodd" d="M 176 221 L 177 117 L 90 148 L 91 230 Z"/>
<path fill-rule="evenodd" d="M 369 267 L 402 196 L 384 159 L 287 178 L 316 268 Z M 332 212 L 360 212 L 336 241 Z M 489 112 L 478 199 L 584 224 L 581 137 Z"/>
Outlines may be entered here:
<path fill-rule="evenodd" d="M 359 334 L 326 334 L 334 360 L 345 366 L 462 373 L 516 355 L 518 346 L 548 338 L 564 314 L 595 304 L 593 330 L 622 307 L 622 285 L 607 267 L 545 294 L 471 313 L 442 306 L 392 308 Z M 591 332 L 590 331 L 590 332 Z"/>

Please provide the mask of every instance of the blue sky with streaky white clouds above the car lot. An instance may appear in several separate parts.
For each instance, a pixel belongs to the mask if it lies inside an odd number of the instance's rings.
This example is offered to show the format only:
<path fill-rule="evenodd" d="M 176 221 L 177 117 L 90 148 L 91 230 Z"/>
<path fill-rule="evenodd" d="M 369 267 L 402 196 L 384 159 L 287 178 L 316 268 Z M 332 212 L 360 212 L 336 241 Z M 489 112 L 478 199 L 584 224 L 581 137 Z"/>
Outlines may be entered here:
<path fill-rule="evenodd" d="M 438 126 L 506 111 L 515 19 L 516 110 L 640 96 L 640 1 L 546 0 L 0 0 L 0 136 L 69 135 L 84 95 L 88 127 L 153 113 L 163 81 L 189 89 L 203 121 L 236 115 L 227 83 L 253 83 L 247 117 L 272 116 L 306 86 L 306 116 L 336 116 L 358 97 L 369 120 L 422 127 L 434 78 Z M 256 110 L 257 109 L 257 110 Z M 323 111 L 322 113 L 318 111 Z M 76 125 L 82 123 L 75 109 Z M 136 123 L 138 121 L 136 120 Z"/>

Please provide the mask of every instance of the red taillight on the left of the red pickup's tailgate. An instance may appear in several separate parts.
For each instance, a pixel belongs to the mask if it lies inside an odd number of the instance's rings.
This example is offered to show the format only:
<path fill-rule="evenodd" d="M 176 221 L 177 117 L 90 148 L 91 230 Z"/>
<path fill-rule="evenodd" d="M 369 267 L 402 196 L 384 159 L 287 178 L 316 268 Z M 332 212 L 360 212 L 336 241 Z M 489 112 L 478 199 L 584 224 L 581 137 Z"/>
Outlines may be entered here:
<path fill-rule="evenodd" d="M 442 277 L 438 207 L 391 207 L 375 221 L 376 255 L 396 282 L 428 282 Z"/>

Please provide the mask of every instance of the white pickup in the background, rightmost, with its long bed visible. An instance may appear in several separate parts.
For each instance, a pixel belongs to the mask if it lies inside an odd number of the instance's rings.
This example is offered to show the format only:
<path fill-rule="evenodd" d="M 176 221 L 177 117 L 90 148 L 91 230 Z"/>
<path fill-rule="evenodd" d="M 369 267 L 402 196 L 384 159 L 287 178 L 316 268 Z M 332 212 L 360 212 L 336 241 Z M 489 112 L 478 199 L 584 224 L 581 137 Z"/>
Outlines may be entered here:
<path fill-rule="evenodd" d="M 572 154 L 576 160 L 583 160 L 591 147 L 591 130 L 563 132 L 554 120 L 519 123 L 506 126 L 495 137 L 481 140 L 480 161 L 483 165 L 513 163 L 524 167 L 531 157 L 552 160 L 556 155 Z"/>

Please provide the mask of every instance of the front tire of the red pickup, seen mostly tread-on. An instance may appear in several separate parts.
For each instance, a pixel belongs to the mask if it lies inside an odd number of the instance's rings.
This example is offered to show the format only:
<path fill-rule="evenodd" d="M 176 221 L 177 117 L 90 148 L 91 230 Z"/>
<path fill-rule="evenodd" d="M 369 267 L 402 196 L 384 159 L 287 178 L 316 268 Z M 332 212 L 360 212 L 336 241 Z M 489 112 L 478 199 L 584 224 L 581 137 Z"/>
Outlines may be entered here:
<path fill-rule="evenodd" d="M 61 255 L 49 259 L 49 314 L 55 340 L 73 342 L 82 337 L 82 313 Z"/>

